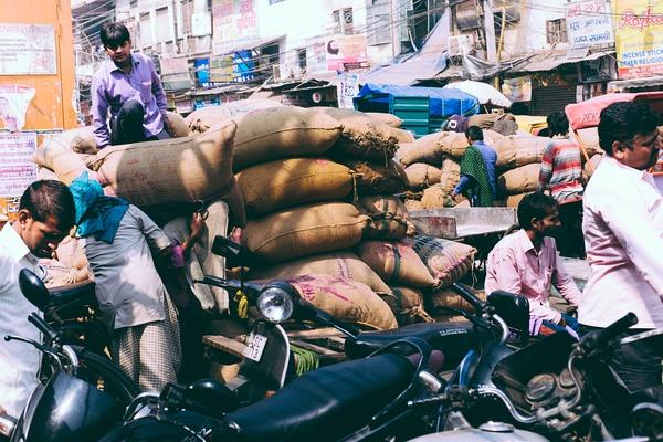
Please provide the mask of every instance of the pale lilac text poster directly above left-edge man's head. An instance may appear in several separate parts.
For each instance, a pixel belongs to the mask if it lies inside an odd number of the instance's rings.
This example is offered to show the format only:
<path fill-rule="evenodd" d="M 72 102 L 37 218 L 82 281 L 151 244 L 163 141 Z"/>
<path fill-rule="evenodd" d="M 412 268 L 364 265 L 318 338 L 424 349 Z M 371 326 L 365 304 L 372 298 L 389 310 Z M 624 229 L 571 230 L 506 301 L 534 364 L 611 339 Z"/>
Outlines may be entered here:
<path fill-rule="evenodd" d="M 0 134 L 0 197 L 20 197 L 36 180 L 35 148 L 35 133 Z"/>

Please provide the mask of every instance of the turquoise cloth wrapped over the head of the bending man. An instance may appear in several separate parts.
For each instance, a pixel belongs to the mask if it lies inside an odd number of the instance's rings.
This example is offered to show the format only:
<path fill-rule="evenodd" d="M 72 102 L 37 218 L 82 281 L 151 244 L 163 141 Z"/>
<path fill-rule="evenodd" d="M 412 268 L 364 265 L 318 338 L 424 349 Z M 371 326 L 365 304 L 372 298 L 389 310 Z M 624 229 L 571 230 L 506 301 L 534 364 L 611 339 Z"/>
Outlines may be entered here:
<path fill-rule="evenodd" d="M 99 241 L 113 244 L 119 222 L 129 209 L 129 203 L 119 198 L 106 197 L 98 181 L 83 172 L 70 186 L 76 206 L 76 233 L 95 235 Z"/>

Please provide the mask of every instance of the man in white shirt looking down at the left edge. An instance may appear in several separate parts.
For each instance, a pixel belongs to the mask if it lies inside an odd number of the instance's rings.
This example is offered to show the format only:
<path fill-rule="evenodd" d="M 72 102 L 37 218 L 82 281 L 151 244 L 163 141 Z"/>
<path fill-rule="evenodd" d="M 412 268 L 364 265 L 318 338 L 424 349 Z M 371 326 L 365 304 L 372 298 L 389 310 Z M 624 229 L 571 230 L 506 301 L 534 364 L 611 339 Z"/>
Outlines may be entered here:
<path fill-rule="evenodd" d="M 33 182 L 19 203 L 18 219 L 0 231 L 0 336 L 19 335 L 36 341 L 40 333 L 28 323 L 36 308 L 19 288 L 19 273 L 28 269 L 45 280 L 39 257 L 51 257 L 74 224 L 74 200 L 60 181 Z M 0 409 L 18 418 L 38 385 L 40 352 L 30 345 L 0 341 Z"/>

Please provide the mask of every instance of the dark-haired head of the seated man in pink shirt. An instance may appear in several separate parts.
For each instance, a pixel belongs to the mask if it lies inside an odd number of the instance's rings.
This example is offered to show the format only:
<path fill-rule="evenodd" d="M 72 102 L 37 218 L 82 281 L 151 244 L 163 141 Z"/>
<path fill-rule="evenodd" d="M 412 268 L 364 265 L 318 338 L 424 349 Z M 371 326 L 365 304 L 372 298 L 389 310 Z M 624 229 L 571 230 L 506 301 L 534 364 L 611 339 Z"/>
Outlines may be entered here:
<path fill-rule="evenodd" d="M 518 224 L 538 238 L 546 236 L 561 225 L 559 204 L 545 193 L 529 193 L 518 204 Z"/>

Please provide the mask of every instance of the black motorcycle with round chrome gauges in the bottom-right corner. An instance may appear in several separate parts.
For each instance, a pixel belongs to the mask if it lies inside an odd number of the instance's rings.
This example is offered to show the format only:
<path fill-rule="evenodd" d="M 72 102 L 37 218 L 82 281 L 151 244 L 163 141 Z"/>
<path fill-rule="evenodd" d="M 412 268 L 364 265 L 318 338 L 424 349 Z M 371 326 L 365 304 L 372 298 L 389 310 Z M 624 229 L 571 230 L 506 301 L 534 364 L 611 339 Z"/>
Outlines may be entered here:
<path fill-rule="evenodd" d="M 621 343 L 613 338 L 635 323 L 628 314 L 580 341 L 557 333 L 515 351 L 488 339 L 481 351 L 467 352 L 439 393 L 410 403 L 438 408 L 439 433 L 415 441 L 661 440 L 661 388 L 630 393 L 602 361 Z M 507 434 L 512 439 L 503 439 Z"/>

